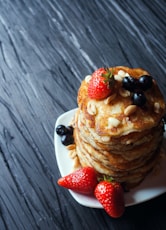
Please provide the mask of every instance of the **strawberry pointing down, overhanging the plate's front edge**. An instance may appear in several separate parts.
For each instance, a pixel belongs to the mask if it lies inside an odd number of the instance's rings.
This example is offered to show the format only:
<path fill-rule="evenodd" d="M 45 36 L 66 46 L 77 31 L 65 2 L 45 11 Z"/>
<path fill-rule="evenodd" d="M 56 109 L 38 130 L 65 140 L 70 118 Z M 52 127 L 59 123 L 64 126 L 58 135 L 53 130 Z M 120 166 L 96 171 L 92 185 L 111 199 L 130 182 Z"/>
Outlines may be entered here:
<path fill-rule="evenodd" d="M 124 191 L 120 183 L 101 181 L 96 186 L 94 194 L 111 217 L 118 218 L 122 216 L 125 205 Z"/>

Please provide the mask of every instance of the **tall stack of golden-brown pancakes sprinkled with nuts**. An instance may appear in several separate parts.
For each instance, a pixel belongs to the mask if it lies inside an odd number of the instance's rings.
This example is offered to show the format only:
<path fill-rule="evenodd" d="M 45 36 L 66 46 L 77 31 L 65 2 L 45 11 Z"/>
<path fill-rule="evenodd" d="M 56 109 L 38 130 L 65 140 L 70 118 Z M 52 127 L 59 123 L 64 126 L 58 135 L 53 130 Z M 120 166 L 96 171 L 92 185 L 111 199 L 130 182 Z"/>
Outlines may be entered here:
<path fill-rule="evenodd" d="M 122 87 L 122 79 L 128 75 L 138 79 L 149 73 L 124 66 L 112 69 L 115 86 L 104 100 L 89 98 L 90 75 L 81 83 L 74 117 L 75 153 L 82 167 L 92 166 L 98 173 L 132 188 L 158 163 L 165 102 L 153 79 L 153 86 L 145 92 L 145 106 L 133 105 L 131 92 Z"/>

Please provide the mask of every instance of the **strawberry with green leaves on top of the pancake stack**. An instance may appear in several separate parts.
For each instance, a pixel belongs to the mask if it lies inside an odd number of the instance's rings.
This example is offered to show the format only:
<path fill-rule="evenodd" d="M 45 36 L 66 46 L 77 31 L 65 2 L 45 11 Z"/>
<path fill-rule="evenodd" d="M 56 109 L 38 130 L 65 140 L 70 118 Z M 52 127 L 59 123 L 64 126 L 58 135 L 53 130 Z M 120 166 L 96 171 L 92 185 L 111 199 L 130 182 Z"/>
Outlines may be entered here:
<path fill-rule="evenodd" d="M 102 100 L 112 93 L 114 76 L 109 68 L 97 69 L 88 85 L 88 96 L 91 99 Z"/>

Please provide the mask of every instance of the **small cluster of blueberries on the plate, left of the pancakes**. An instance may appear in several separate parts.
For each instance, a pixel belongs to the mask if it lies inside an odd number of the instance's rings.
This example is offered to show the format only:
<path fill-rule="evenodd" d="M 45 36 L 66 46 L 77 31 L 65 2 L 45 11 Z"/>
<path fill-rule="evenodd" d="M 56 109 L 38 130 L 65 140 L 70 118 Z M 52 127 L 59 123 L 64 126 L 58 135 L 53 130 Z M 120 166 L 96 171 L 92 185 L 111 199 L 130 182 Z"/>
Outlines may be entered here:
<path fill-rule="evenodd" d="M 58 125 L 56 127 L 56 133 L 61 136 L 61 142 L 63 145 L 67 146 L 74 143 L 72 126 Z"/>

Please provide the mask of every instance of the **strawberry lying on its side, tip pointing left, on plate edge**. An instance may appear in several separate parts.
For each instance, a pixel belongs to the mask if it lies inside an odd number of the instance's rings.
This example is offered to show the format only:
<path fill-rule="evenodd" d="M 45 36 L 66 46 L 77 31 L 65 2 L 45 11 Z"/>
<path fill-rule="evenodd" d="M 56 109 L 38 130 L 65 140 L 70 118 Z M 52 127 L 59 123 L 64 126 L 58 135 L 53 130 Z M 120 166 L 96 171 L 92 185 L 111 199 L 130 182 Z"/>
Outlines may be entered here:
<path fill-rule="evenodd" d="M 97 185 L 97 173 L 92 167 L 84 167 L 58 180 L 58 184 L 75 192 L 90 195 Z"/>

